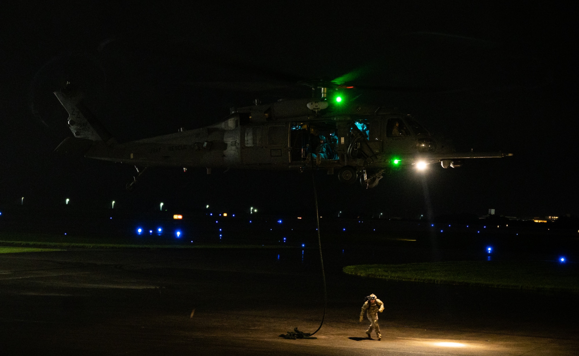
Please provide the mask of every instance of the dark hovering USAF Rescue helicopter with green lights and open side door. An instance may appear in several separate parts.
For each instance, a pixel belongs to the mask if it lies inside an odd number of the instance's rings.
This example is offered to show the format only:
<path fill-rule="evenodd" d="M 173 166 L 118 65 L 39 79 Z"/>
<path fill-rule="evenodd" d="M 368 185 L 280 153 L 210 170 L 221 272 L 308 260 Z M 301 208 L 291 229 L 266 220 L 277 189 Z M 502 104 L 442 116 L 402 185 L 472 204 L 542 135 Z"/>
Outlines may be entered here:
<path fill-rule="evenodd" d="M 376 187 L 383 173 L 428 165 L 459 168 L 465 159 L 503 158 L 503 152 L 456 152 L 409 114 L 348 100 L 347 83 L 307 83 L 312 97 L 280 99 L 230 108 L 203 128 L 118 143 L 83 103 L 83 92 L 67 82 L 54 95 L 68 112 L 73 136 L 56 152 L 135 166 L 132 190 L 149 167 L 326 170 L 345 184 Z"/>

